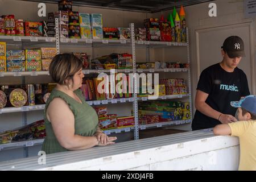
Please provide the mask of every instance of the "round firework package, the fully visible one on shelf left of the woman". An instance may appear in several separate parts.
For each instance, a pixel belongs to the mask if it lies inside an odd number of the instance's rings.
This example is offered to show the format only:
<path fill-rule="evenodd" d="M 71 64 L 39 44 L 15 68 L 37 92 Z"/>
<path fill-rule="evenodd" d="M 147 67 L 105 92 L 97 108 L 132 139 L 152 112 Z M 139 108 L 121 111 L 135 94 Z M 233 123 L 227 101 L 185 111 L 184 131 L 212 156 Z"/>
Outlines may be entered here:
<path fill-rule="evenodd" d="M 9 99 L 14 107 L 22 107 L 27 102 L 27 93 L 23 89 L 14 89 L 11 91 Z"/>

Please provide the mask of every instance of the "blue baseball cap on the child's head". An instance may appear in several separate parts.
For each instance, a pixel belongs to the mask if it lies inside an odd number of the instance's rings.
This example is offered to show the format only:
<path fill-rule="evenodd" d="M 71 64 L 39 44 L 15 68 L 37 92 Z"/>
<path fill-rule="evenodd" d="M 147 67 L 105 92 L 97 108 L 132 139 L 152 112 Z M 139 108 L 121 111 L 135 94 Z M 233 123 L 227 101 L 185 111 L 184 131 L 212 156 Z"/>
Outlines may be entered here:
<path fill-rule="evenodd" d="M 256 114 L 256 96 L 250 95 L 241 99 L 240 101 L 230 102 L 232 107 L 242 107 L 252 114 Z"/>

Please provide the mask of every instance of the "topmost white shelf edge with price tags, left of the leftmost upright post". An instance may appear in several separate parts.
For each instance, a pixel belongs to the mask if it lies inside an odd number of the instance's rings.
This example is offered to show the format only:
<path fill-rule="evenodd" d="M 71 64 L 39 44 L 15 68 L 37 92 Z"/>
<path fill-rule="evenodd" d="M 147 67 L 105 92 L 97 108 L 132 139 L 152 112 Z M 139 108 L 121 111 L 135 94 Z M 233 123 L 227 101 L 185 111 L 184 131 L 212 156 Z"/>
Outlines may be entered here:
<path fill-rule="evenodd" d="M 0 36 L 1 41 L 5 40 L 7 42 L 55 42 L 53 37 L 45 36 Z"/>

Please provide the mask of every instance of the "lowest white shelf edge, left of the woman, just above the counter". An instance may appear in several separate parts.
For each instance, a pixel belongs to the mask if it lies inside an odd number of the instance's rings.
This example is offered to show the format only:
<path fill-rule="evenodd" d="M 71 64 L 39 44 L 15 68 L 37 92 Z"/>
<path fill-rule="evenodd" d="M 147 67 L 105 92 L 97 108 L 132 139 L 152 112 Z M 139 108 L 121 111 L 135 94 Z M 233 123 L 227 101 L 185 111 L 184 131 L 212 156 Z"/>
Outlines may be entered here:
<path fill-rule="evenodd" d="M 44 142 L 44 139 L 34 139 L 34 140 L 25 140 L 22 142 L 11 142 L 11 143 L 0 144 L 0 151 L 10 150 L 14 148 L 35 146 L 38 144 L 42 144 L 43 142 Z"/>

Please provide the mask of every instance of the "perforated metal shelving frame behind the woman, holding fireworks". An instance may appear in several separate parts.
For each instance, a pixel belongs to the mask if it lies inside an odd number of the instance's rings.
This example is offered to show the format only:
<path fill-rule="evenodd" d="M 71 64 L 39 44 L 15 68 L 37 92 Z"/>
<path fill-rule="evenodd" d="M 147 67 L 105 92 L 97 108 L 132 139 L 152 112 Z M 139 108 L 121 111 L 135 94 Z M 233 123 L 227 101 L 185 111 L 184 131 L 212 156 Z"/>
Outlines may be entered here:
<path fill-rule="evenodd" d="M 57 19 L 55 21 L 56 27 L 58 27 Z M 187 72 L 188 80 L 189 80 L 189 93 L 188 94 L 177 94 L 177 95 L 167 95 L 160 96 L 159 100 L 168 100 L 175 98 L 185 98 L 189 97 L 189 103 L 191 107 L 191 81 L 190 81 L 190 69 L 189 68 L 164 68 L 164 69 L 136 69 L 136 55 L 135 55 L 135 46 L 146 46 L 147 48 L 158 48 L 158 47 L 187 47 L 187 55 L 188 55 L 188 63 L 189 63 L 189 42 L 188 42 L 188 30 L 187 30 L 187 43 L 175 43 L 175 42 L 149 42 L 149 41 L 135 41 L 134 38 L 134 24 L 130 23 L 131 31 L 131 40 L 106 40 L 106 39 L 63 39 L 59 38 L 59 31 L 56 28 L 56 38 L 45 38 L 45 37 L 18 37 L 18 36 L 0 36 L 0 39 L 7 42 L 40 42 L 40 43 L 56 43 L 57 53 L 60 53 L 60 46 L 127 46 L 131 48 L 131 52 L 133 54 L 133 69 L 115 69 L 115 72 L 125 72 L 125 73 L 140 73 L 140 72 Z M 149 56 L 147 55 L 147 60 Z M 110 73 L 110 69 L 102 69 L 102 70 L 83 70 L 84 74 L 93 74 L 93 73 Z M 3 72 L 0 73 L 0 77 L 9 77 L 9 76 L 41 76 L 41 75 L 49 75 L 49 72 Z M 136 77 L 134 78 L 136 79 Z M 137 81 L 134 80 L 134 89 L 137 88 Z M 86 101 L 89 105 L 106 105 L 106 104 L 119 104 L 124 102 L 133 102 L 133 110 L 135 117 L 135 125 L 122 127 L 118 129 L 105 130 L 104 133 L 112 134 L 112 133 L 123 133 L 134 131 L 134 139 L 139 139 L 139 130 L 147 129 L 150 127 L 163 127 L 163 126 L 173 126 L 173 125 L 181 125 L 184 123 L 191 122 L 191 119 L 188 120 L 177 120 L 163 123 L 152 123 L 149 125 L 139 125 L 138 124 L 138 101 L 146 101 L 147 97 L 137 97 L 137 93 L 134 92 L 134 96 L 131 98 L 117 98 L 112 100 L 101 100 L 101 101 Z M 35 105 L 35 106 L 23 106 L 23 107 L 7 107 L 0 109 L 0 114 L 3 113 L 16 113 L 22 112 L 22 123 L 26 125 L 26 113 L 27 111 L 33 110 L 43 110 L 45 105 Z M 192 111 L 191 111 L 192 112 Z M 192 114 L 192 113 L 191 113 Z M 33 146 L 35 144 L 42 144 L 43 139 L 38 140 L 30 140 L 24 142 L 13 142 L 7 144 L 1 144 L 0 150 L 4 148 L 15 148 L 15 147 L 24 147 L 24 156 L 27 156 L 27 147 Z"/>

